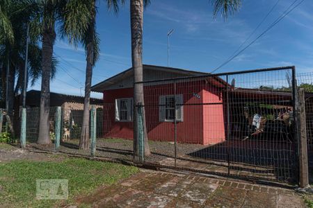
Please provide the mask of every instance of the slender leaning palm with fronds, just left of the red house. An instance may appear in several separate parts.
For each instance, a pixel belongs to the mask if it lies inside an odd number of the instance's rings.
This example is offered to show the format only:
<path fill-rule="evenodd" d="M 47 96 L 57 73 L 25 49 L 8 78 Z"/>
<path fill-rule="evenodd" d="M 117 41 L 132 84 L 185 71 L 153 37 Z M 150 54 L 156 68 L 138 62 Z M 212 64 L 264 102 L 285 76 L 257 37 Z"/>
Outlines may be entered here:
<path fill-rule="evenodd" d="M 70 42 L 77 44 L 81 42 L 86 51 L 86 81 L 85 81 L 85 99 L 83 103 L 83 125 L 81 128 L 81 139 L 79 141 L 79 148 L 83 150 L 88 150 L 90 146 L 89 140 L 89 110 L 90 110 L 90 87 L 93 76 L 93 67 L 95 62 L 99 58 L 99 37 L 96 32 L 95 19 L 97 16 L 97 6 L 96 0 L 83 0 L 79 2 L 72 1 L 67 5 L 68 10 L 67 15 L 64 17 L 64 28 L 63 33 L 66 33 L 70 37 Z M 106 0 L 106 6 L 110 10 L 113 8 L 115 13 L 118 13 L 118 4 L 124 3 L 123 0 Z M 86 14 L 86 19 L 84 19 L 83 24 L 78 21 L 75 24 L 69 24 L 68 19 L 74 19 L 70 14 L 74 14 L 75 8 L 79 8 L 77 12 Z M 82 12 L 83 10 L 83 12 Z M 89 13 L 88 13 L 89 12 Z"/>

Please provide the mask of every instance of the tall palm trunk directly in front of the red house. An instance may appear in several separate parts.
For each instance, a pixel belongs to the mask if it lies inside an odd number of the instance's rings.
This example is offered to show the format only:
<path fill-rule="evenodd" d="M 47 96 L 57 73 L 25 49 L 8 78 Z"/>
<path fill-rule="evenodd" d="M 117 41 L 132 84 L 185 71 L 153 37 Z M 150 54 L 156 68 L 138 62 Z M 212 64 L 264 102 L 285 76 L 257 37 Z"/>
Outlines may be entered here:
<path fill-rule="evenodd" d="M 143 81 L 143 0 L 131 0 L 131 62 L 134 70 L 134 82 Z M 134 104 L 145 105 L 143 98 L 143 84 L 134 86 Z M 134 152 L 137 153 L 137 110 L 134 110 Z M 143 135 L 145 156 L 150 155 L 147 142 L 147 127 L 145 123 L 145 108 L 143 107 Z"/>

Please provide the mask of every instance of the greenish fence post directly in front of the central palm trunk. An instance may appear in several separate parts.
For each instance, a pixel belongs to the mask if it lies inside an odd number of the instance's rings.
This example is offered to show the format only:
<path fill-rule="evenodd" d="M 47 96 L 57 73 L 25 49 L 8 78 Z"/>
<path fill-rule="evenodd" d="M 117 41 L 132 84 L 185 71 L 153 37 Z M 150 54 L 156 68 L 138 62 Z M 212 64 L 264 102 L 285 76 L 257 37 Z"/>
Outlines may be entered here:
<path fill-rule="evenodd" d="M 143 163 L 145 161 L 145 142 L 143 135 L 143 105 L 138 103 L 137 110 L 137 142 L 138 142 L 138 152 L 139 152 L 139 162 Z"/>

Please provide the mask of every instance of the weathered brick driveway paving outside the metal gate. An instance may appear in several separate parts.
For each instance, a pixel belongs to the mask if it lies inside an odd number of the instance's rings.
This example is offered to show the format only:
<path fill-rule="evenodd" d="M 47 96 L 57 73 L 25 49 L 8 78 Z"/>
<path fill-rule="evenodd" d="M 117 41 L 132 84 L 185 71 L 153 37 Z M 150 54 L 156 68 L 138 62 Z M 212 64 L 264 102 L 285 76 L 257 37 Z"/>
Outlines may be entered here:
<path fill-rule="evenodd" d="M 77 205 L 92 207 L 305 207 L 288 189 L 242 182 L 142 172 L 111 187 L 101 187 Z"/>

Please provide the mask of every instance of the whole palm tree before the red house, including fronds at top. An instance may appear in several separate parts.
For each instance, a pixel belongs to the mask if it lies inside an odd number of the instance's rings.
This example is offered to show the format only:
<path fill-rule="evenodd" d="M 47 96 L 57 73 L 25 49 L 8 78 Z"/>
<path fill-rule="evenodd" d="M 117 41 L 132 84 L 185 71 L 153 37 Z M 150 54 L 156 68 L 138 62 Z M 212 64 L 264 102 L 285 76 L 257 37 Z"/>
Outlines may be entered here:
<path fill-rule="evenodd" d="M 134 82 L 143 81 L 143 8 L 150 3 L 150 0 L 130 0 L 131 12 L 131 62 L 134 70 Z M 227 19 L 227 15 L 239 10 L 241 0 L 212 0 L 214 6 L 214 17 L 219 13 Z M 143 84 L 134 87 L 134 105 L 144 105 Z M 136 152 L 136 113 L 134 115 L 134 152 Z M 150 155 L 150 148 L 147 143 L 147 128 L 145 123 L 145 110 L 143 109 L 143 130 L 145 155 Z"/>

